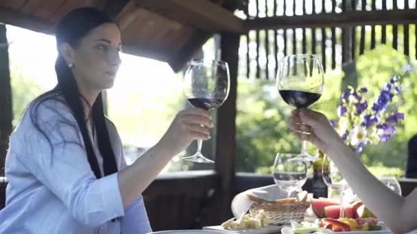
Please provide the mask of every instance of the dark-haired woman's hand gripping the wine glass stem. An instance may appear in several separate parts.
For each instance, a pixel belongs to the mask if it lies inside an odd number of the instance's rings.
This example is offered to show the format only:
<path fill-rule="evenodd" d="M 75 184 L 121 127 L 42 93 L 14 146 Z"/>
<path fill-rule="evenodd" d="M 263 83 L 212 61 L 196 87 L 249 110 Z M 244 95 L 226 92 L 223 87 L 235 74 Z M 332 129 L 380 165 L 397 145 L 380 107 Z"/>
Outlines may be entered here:
<path fill-rule="evenodd" d="M 178 112 L 158 144 L 174 156 L 184 151 L 193 140 L 208 140 L 212 127 L 213 120 L 208 111 L 199 108 L 185 109 Z"/>

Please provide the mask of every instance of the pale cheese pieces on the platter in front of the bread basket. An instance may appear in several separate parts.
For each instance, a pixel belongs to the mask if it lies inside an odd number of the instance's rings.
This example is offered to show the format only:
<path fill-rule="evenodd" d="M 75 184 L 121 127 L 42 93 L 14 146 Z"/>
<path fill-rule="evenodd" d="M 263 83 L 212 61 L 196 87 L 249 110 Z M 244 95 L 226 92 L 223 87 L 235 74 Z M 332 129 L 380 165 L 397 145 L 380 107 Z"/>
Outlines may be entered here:
<path fill-rule="evenodd" d="M 243 214 L 239 219 L 231 218 L 222 223 L 224 229 L 238 230 L 238 229 L 261 229 L 268 225 L 265 212 L 261 209 L 255 217 L 249 214 Z"/>

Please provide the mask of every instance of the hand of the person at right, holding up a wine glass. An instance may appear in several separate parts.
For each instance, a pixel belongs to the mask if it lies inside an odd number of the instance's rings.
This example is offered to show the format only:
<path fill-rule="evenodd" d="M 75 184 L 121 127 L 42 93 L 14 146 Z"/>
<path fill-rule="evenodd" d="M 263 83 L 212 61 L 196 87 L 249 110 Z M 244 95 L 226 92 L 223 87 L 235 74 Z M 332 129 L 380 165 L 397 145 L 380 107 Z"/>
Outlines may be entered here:
<path fill-rule="evenodd" d="M 296 131 L 298 139 L 315 144 L 323 153 L 329 153 L 331 147 L 336 148 L 340 143 L 343 144 L 326 116 L 311 109 L 295 109 L 292 112 L 290 128 Z"/>

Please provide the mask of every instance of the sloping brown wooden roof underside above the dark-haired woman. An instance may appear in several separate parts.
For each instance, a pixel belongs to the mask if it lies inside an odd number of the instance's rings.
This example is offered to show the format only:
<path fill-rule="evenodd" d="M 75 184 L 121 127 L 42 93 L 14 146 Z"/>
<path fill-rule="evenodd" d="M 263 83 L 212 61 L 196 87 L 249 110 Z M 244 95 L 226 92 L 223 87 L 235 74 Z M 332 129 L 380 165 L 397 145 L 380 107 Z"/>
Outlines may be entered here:
<path fill-rule="evenodd" d="M 214 33 L 243 31 L 233 15 L 239 1 L 208 0 L 2 0 L 0 22 L 53 34 L 67 12 L 103 10 L 121 28 L 123 51 L 168 62 L 178 71 Z"/>

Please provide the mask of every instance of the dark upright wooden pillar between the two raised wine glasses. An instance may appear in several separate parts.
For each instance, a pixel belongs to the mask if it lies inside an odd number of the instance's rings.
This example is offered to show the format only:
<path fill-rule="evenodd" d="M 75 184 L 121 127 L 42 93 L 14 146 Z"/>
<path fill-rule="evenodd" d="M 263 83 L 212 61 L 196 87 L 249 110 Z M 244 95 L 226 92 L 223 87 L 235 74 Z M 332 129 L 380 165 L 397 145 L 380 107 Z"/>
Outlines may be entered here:
<path fill-rule="evenodd" d="M 220 175 L 222 190 L 222 216 L 226 220 L 232 216 L 230 203 L 232 200 L 232 185 L 235 177 L 235 119 L 237 94 L 237 64 L 239 61 L 239 34 L 222 34 L 222 60 L 228 62 L 230 70 L 230 92 L 227 101 L 217 109 L 217 131 L 215 133 L 215 169 Z"/>

